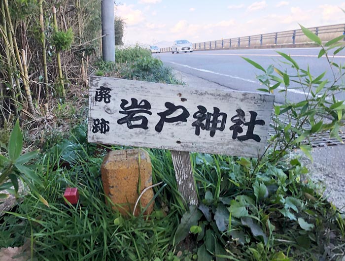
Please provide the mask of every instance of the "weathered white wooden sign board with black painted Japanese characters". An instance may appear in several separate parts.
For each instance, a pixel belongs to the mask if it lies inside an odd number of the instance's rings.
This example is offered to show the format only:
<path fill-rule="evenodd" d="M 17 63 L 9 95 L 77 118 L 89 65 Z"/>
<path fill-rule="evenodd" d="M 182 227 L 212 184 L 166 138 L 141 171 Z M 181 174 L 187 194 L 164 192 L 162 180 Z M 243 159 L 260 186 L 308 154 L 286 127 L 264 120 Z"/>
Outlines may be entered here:
<path fill-rule="evenodd" d="M 258 157 L 273 102 L 270 94 L 92 76 L 88 141 Z"/>

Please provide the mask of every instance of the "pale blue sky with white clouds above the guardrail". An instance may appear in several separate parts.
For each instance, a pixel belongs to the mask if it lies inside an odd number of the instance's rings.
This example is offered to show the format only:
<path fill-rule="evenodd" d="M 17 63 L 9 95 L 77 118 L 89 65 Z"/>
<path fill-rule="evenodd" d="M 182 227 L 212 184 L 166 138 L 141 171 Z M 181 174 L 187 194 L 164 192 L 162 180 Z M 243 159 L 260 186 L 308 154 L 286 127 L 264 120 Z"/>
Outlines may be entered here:
<path fill-rule="evenodd" d="M 327 3 L 326 3 L 327 2 Z M 168 47 L 177 39 L 203 42 L 345 23 L 345 0 L 121 0 L 124 44 Z M 116 32 L 115 32 L 116 33 Z"/>

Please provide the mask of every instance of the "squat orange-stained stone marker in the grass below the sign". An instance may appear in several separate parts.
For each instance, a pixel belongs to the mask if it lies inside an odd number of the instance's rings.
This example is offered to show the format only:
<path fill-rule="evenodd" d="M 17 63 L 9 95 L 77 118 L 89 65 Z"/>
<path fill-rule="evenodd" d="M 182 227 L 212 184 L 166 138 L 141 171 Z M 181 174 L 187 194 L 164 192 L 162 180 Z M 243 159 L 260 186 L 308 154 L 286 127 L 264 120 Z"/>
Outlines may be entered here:
<path fill-rule="evenodd" d="M 101 166 L 104 193 L 115 203 L 122 215 L 134 210 L 140 193 L 152 185 L 152 166 L 148 153 L 141 149 L 110 151 Z M 139 188 L 138 188 L 139 187 Z M 139 192 L 139 193 L 138 193 Z M 153 190 L 148 189 L 141 197 L 135 215 L 153 198 Z M 144 214 L 153 210 L 153 201 Z"/>

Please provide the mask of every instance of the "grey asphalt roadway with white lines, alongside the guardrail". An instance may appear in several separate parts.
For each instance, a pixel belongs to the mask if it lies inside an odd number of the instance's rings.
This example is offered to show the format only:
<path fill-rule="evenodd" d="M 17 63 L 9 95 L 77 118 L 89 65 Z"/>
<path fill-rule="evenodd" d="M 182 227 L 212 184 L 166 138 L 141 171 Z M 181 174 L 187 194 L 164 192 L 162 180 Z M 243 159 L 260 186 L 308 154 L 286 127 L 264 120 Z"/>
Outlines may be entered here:
<path fill-rule="evenodd" d="M 326 75 L 324 79 L 334 81 L 333 73 L 327 63 L 326 58 L 317 58 L 319 48 L 289 48 L 289 49 L 247 49 L 247 50 L 217 50 L 217 51 L 194 51 L 193 53 L 161 53 L 155 56 L 162 62 L 176 70 L 206 79 L 223 85 L 225 87 L 240 90 L 256 92 L 260 86 L 260 82 L 255 78 L 256 74 L 263 72 L 247 63 L 241 57 L 247 57 L 265 69 L 269 65 L 274 65 L 278 69 L 287 70 L 289 75 L 296 75 L 296 70 L 291 66 L 283 64 L 286 61 L 276 51 L 291 55 L 300 68 L 306 69 L 310 67 L 311 75 L 317 77 L 324 71 Z M 345 65 L 345 52 L 337 54 L 334 58 L 337 64 Z M 335 72 L 338 73 L 337 68 Z M 337 76 L 337 75 L 336 75 Z M 339 76 L 338 76 L 339 77 Z M 344 78 L 344 77 L 343 77 Z M 343 83 L 345 79 L 343 79 Z M 327 85 L 326 85 L 327 86 Z M 282 89 L 284 86 L 279 87 Z M 305 99 L 305 94 L 300 86 L 292 83 L 289 86 L 287 98 L 291 101 L 300 101 Z M 283 103 L 282 94 L 275 92 L 276 102 Z M 338 99 L 345 99 L 345 94 L 337 95 Z"/>

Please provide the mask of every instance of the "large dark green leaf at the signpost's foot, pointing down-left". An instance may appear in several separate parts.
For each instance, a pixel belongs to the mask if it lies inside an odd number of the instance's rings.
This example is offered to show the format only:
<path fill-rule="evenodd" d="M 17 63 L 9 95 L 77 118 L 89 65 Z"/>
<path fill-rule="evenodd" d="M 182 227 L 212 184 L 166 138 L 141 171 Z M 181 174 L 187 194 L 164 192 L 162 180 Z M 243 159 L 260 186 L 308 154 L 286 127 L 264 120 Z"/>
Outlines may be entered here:
<path fill-rule="evenodd" d="M 174 243 L 178 244 L 189 234 L 189 229 L 192 226 L 198 225 L 199 219 L 203 213 L 198 210 L 195 205 L 189 206 L 189 210 L 185 212 L 181 218 L 181 223 L 178 225 L 175 233 Z"/>

